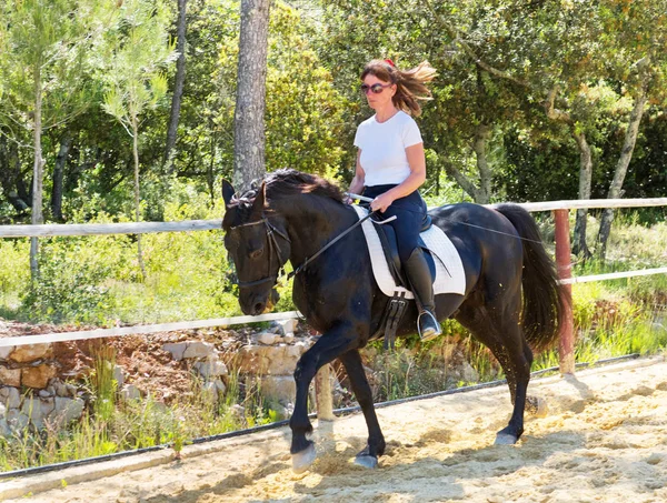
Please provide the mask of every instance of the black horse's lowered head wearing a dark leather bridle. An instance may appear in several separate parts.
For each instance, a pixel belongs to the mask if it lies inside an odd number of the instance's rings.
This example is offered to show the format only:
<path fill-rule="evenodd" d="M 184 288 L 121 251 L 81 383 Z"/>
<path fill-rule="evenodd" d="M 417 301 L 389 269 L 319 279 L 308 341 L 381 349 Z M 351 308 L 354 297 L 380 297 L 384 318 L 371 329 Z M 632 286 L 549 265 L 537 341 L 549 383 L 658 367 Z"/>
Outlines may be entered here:
<path fill-rule="evenodd" d="M 236 268 L 241 310 L 251 315 L 270 311 L 280 298 L 275 286 L 291 251 L 283 222 L 268 207 L 263 182 L 237 198 L 223 181 L 222 198 L 225 248 Z"/>

